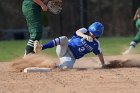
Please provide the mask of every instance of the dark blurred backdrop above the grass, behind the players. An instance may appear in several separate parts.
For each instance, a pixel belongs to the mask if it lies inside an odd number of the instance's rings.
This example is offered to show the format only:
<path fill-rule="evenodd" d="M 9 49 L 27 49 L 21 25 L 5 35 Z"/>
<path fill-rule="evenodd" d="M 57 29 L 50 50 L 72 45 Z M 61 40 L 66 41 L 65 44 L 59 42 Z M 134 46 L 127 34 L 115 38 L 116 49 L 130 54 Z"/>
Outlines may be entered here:
<path fill-rule="evenodd" d="M 21 11 L 23 0 L 0 1 L 0 29 L 27 28 Z M 82 7 L 80 2 L 83 2 Z M 105 25 L 105 36 L 134 35 L 132 19 L 139 3 L 139 0 L 63 0 L 62 13 L 53 15 L 47 12 L 43 21 L 50 27 L 48 37 L 70 36 L 78 28 L 88 27 L 94 21 Z"/>

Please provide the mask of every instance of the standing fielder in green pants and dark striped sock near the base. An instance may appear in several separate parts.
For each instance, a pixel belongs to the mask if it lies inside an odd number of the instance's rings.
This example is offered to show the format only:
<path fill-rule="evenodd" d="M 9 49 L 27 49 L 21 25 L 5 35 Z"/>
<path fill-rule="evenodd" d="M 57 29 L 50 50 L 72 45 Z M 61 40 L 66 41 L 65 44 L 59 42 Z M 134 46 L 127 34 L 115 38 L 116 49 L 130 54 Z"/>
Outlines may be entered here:
<path fill-rule="evenodd" d="M 24 0 L 22 4 L 23 15 L 26 18 L 30 33 L 27 42 L 25 55 L 34 53 L 34 41 L 42 37 L 42 11 L 47 11 L 48 7 L 41 0 Z"/>

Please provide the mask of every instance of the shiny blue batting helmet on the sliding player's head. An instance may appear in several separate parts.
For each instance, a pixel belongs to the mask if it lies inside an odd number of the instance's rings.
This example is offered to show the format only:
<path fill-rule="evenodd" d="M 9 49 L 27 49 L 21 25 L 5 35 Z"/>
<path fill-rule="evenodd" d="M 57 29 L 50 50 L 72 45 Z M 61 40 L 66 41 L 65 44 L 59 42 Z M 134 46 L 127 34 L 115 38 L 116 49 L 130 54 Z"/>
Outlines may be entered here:
<path fill-rule="evenodd" d="M 103 34 L 104 26 L 100 22 L 94 22 L 89 26 L 88 31 L 95 37 L 100 37 Z"/>

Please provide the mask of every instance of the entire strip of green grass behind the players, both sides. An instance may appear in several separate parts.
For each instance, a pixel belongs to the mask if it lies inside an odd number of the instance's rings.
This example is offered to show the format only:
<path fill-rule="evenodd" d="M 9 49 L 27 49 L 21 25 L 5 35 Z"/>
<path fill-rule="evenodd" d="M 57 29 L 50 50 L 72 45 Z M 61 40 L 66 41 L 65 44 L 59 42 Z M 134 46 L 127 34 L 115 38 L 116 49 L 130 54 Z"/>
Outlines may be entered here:
<path fill-rule="evenodd" d="M 133 37 L 103 37 L 99 39 L 104 55 L 120 55 L 128 48 Z M 43 40 L 42 43 L 48 40 Z M 23 41 L 0 41 L 0 61 L 10 61 L 24 55 L 27 40 Z M 135 53 L 140 53 L 139 45 L 134 49 Z M 55 48 L 47 49 L 44 54 L 56 57 Z M 87 56 L 93 56 L 90 53 Z"/>

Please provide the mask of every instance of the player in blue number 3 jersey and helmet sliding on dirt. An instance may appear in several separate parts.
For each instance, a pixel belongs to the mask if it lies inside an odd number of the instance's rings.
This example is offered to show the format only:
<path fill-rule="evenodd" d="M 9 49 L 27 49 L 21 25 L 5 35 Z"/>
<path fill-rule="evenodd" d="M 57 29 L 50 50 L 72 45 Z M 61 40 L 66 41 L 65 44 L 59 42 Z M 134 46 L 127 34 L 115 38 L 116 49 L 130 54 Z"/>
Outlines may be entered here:
<path fill-rule="evenodd" d="M 99 57 L 102 66 L 105 66 L 104 57 L 100 48 L 98 38 L 103 34 L 104 26 L 100 22 L 94 22 L 88 29 L 81 28 L 77 30 L 72 38 L 68 40 L 66 36 L 61 36 L 41 46 L 41 49 L 47 49 L 57 46 L 56 53 L 60 59 L 60 68 L 73 68 L 76 59 L 93 52 Z M 38 42 L 35 43 L 37 53 L 40 51 Z"/>

